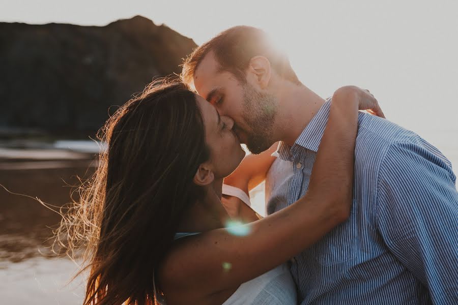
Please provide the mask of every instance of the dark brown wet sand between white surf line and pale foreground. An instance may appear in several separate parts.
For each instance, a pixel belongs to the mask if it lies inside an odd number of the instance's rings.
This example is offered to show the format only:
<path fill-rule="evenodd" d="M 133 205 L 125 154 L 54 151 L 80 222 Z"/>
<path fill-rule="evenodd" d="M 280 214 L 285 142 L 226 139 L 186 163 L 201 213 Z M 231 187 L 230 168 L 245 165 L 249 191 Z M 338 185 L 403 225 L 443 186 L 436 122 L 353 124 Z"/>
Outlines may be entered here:
<path fill-rule="evenodd" d="M 94 170 L 90 167 L 92 160 L 65 162 L 25 161 L 5 166 L 0 161 L 0 184 L 12 193 L 63 206 L 70 202 L 71 193 L 79 184 L 77 177 L 88 177 Z M 0 188 L 0 266 L 5 260 L 18 262 L 40 252 L 51 254 L 47 238 L 52 236 L 50 228 L 61 220 L 60 215 L 38 200 L 16 194 Z"/>

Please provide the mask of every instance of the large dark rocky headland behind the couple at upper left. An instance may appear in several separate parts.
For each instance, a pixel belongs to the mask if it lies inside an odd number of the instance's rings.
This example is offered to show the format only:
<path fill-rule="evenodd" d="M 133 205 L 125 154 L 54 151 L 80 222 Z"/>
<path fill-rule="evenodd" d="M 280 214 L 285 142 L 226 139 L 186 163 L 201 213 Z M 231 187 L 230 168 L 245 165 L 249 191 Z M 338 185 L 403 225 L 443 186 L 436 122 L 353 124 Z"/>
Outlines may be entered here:
<path fill-rule="evenodd" d="M 136 16 L 106 26 L 0 23 L 0 129 L 88 136 L 196 44 Z"/>

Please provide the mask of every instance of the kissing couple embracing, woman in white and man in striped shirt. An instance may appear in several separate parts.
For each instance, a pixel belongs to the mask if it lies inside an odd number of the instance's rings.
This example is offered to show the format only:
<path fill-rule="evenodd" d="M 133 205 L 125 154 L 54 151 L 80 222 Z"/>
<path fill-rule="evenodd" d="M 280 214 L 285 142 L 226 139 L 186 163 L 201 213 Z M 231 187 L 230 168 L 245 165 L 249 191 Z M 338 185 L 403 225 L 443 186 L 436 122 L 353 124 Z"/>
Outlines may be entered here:
<path fill-rule="evenodd" d="M 197 47 L 102 132 L 61 228 L 87 247 L 85 305 L 458 303 L 450 162 L 367 90 L 321 98 L 260 29 Z"/>

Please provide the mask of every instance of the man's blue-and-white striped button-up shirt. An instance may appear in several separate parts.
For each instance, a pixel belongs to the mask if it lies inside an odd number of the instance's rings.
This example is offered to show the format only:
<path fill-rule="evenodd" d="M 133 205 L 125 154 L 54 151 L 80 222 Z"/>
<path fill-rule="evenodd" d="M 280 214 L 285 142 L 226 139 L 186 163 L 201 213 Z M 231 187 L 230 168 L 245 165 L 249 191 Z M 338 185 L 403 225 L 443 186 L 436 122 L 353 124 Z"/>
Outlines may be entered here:
<path fill-rule="evenodd" d="M 287 202 L 268 203 L 269 212 L 307 191 L 329 107 L 327 101 L 293 147 L 280 143 L 293 174 L 277 191 L 279 198 L 288 193 Z M 358 126 L 350 218 L 295 257 L 299 300 L 458 304 L 458 193 L 450 162 L 386 119 L 360 113 Z"/>

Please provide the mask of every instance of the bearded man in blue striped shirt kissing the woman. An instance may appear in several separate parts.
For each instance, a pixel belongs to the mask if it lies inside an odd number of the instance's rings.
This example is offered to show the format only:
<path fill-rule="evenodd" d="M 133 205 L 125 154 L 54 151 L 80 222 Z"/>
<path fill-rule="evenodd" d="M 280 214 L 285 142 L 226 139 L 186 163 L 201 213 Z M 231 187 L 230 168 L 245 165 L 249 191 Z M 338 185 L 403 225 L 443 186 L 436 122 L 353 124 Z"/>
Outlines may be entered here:
<path fill-rule="evenodd" d="M 194 50 L 182 78 L 234 119 L 252 153 L 281 141 L 279 157 L 292 162 L 293 174 L 282 184 L 287 200 L 269 212 L 305 194 L 330 101 L 298 80 L 261 30 L 222 32 Z M 299 299 L 458 303 L 458 193 L 450 162 L 388 120 L 360 113 L 358 126 L 350 218 L 295 257 Z"/>

